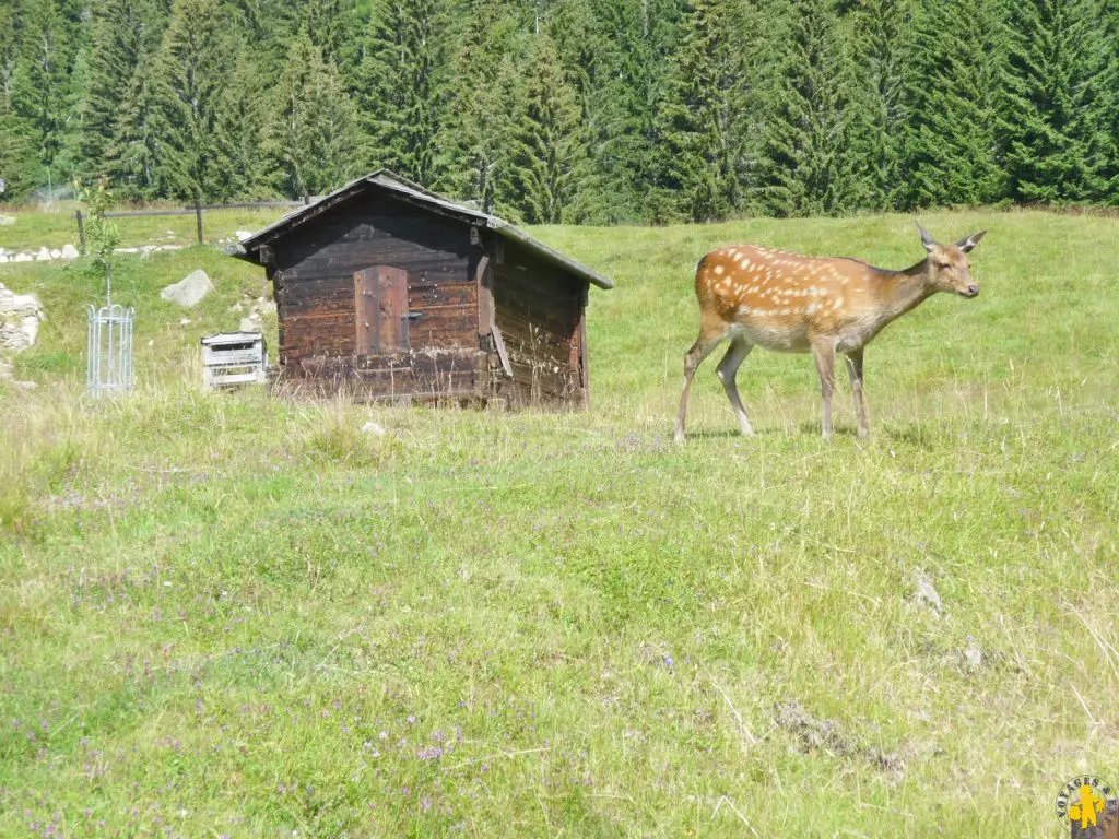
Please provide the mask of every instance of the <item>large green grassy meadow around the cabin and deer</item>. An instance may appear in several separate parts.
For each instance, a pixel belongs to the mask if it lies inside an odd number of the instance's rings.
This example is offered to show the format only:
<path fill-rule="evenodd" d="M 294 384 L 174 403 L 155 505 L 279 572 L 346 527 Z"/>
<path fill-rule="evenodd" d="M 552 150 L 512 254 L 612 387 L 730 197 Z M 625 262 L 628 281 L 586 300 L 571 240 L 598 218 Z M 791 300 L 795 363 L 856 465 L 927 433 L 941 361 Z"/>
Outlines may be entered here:
<path fill-rule="evenodd" d="M 203 394 L 264 283 L 200 248 L 121 270 L 140 387 L 95 405 L 96 283 L 3 271 L 48 320 L 0 395 L 0 835 L 1066 836 L 1062 782 L 1119 780 L 1119 224 L 922 220 L 990 229 L 982 293 L 872 346 L 865 444 L 755 352 L 759 435 L 712 359 L 673 445 L 690 272 L 902 266 L 901 217 L 539 230 L 618 282 L 585 414 Z"/>

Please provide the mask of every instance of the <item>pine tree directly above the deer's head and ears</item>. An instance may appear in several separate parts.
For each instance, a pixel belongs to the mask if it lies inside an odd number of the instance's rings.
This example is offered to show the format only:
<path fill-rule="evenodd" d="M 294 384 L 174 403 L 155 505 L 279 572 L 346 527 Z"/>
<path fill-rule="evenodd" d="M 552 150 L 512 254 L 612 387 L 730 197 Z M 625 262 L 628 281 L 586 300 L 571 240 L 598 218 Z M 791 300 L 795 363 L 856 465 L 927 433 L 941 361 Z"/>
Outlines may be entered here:
<path fill-rule="evenodd" d="M 923 0 L 918 9 L 906 94 L 906 206 L 994 204 L 1006 195 L 999 11 L 999 0 Z"/>

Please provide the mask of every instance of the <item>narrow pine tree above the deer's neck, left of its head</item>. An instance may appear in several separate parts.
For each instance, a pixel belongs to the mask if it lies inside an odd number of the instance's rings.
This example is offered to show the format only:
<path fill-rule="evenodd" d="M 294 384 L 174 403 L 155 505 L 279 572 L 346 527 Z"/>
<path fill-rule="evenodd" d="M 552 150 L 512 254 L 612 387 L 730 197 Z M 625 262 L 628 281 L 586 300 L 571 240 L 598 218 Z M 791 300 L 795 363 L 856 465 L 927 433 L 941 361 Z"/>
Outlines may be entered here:
<path fill-rule="evenodd" d="M 859 209 L 904 204 L 909 123 L 905 62 L 912 54 L 913 0 L 866 0 L 852 16 L 857 91 L 852 150 Z"/>

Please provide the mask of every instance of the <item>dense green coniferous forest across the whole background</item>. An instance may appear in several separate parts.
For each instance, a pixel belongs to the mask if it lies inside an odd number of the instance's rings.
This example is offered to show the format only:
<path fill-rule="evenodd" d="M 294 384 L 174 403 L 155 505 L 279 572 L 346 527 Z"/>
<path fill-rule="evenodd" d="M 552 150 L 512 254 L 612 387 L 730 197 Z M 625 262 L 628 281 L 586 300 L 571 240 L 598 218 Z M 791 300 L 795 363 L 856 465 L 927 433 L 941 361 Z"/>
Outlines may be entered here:
<path fill-rule="evenodd" d="M 321 195 L 530 223 L 1119 205 L 1119 0 L 3 0 L 8 201 Z"/>

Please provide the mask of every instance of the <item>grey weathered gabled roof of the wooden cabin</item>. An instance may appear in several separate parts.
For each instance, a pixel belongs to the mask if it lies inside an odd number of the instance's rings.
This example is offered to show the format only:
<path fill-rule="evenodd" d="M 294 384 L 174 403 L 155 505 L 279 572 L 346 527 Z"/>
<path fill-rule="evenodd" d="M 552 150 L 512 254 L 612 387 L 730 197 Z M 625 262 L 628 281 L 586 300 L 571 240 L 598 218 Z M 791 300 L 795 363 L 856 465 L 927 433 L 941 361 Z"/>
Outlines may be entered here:
<path fill-rule="evenodd" d="M 482 213 L 462 204 L 457 204 L 448 198 L 444 198 L 443 196 L 432 192 L 431 190 L 424 189 L 419 183 L 413 183 L 406 178 L 402 178 L 387 169 L 378 169 L 377 171 L 363 178 L 358 178 L 357 180 L 347 183 L 341 189 L 337 189 L 330 195 L 320 198 L 314 204 L 310 204 L 307 207 L 300 207 L 293 213 L 289 213 L 280 220 L 274 221 L 248 238 L 238 242 L 233 246 L 231 255 L 236 256 L 239 260 L 260 264 L 257 251 L 262 245 L 266 245 L 284 236 L 299 225 L 304 221 L 309 221 L 312 218 L 317 218 L 332 207 L 349 201 L 350 199 L 366 192 L 376 190 L 392 192 L 394 197 L 407 201 L 408 204 L 414 204 L 417 207 L 422 207 L 431 213 L 450 216 L 467 224 L 488 227 L 499 236 L 523 245 L 540 258 L 556 265 L 570 274 L 574 274 L 587 283 L 596 285 L 600 289 L 614 287 L 614 284 L 610 279 L 592 271 L 585 265 L 582 265 L 567 256 L 564 256 L 558 251 L 555 251 L 554 248 L 545 245 L 543 242 L 533 238 L 524 230 L 517 229 L 517 227 L 509 224 L 504 218 Z"/>

